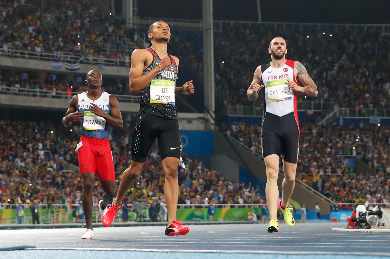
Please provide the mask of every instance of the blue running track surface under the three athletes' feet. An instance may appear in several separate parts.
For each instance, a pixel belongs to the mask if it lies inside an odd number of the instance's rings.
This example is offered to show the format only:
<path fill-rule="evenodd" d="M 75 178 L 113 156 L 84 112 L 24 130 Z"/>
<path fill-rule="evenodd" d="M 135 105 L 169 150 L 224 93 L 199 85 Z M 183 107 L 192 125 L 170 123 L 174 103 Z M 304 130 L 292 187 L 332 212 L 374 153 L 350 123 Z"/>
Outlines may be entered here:
<path fill-rule="evenodd" d="M 390 258 L 390 233 L 336 232 L 345 222 L 189 225 L 186 236 L 167 237 L 163 226 L 0 230 L 1 258 Z M 25 250 L 6 250 L 27 246 Z M 2 251 L 2 249 L 4 249 Z"/>

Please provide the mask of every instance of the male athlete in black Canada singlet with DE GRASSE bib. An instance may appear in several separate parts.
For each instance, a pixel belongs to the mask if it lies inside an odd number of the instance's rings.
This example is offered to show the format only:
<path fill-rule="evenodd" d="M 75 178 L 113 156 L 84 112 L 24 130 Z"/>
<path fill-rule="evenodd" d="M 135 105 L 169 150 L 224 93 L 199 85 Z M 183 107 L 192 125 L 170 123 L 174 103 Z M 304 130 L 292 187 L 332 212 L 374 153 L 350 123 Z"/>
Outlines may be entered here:
<path fill-rule="evenodd" d="M 189 227 L 176 221 L 179 185 L 177 166 L 180 162 L 181 138 L 177 121 L 175 94 L 193 94 L 192 80 L 176 87 L 179 59 L 168 54 L 167 43 L 170 28 L 164 21 L 156 21 L 149 27 L 151 48 L 134 50 L 129 72 L 130 90 L 141 92 L 140 111 L 131 142 L 131 165 L 123 172 L 121 183 L 112 206 L 103 216 L 103 225 L 109 226 L 121 207 L 124 194 L 135 177 L 140 175 L 149 149 L 158 139 L 158 148 L 165 172 L 164 193 L 168 205 L 167 236 L 185 235 Z"/>

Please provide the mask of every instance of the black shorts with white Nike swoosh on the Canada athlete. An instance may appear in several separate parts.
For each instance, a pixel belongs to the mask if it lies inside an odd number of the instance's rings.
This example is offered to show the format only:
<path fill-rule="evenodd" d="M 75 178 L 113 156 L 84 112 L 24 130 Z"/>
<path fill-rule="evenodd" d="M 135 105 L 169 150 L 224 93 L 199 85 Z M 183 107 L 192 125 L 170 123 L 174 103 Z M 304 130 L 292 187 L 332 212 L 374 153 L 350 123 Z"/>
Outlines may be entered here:
<path fill-rule="evenodd" d="M 179 121 L 138 112 L 137 125 L 131 140 L 131 160 L 145 162 L 154 140 L 158 140 L 161 158 L 181 155 Z"/>

